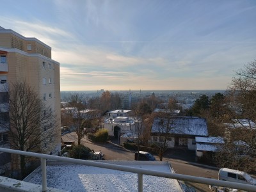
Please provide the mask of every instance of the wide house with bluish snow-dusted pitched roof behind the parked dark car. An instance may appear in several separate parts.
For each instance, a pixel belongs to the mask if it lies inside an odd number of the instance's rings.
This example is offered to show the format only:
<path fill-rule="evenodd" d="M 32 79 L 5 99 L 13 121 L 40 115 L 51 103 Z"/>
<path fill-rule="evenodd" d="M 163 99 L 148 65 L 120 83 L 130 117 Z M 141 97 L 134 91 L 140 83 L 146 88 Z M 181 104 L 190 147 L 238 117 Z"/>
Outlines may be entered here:
<path fill-rule="evenodd" d="M 154 118 L 151 128 L 151 142 L 160 142 L 163 140 L 163 134 L 166 129 L 161 127 L 166 126 L 168 118 Z M 173 116 L 172 122 L 168 124 L 168 148 L 188 148 L 196 150 L 196 136 L 208 137 L 207 122 L 205 118 L 194 116 Z"/>

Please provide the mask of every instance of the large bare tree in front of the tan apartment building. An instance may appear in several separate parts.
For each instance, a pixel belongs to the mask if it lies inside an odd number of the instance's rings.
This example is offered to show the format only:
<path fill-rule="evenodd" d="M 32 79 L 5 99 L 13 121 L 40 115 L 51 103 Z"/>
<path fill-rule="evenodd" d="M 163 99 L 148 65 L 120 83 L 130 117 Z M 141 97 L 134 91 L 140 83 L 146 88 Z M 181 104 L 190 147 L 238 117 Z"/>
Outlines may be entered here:
<path fill-rule="evenodd" d="M 51 152 L 55 145 L 56 115 L 26 82 L 10 84 L 8 111 L 10 145 L 17 150 Z M 49 145 L 51 143 L 51 145 Z M 26 158 L 20 156 L 20 171 L 26 176 Z"/>

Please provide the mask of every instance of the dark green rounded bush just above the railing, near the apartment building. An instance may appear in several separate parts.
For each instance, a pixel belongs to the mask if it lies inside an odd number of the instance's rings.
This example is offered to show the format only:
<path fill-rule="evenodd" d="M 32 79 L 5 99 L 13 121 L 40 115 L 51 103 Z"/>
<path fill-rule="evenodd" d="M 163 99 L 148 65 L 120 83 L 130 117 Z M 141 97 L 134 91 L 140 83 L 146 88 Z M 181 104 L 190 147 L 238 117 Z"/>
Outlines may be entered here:
<path fill-rule="evenodd" d="M 69 151 L 70 157 L 75 159 L 88 159 L 92 150 L 84 145 L 74 145 Z"/>

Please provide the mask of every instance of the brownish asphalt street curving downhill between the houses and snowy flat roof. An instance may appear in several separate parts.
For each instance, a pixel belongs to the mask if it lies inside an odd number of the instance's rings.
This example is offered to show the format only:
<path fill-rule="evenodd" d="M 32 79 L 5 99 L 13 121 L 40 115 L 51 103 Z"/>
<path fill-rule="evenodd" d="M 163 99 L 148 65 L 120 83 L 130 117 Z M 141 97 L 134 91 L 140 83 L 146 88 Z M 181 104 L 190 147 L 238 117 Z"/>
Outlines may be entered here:
<path fill-rule="evenodd" d="M 77 143 L 77 137 L 75 132 L 70 132 L 62 136 L 63 141 L 75 141 Z M 91 148 L 92 150 L 101 151 L 104 154 L 104 159 L 106 160 L 134 160 L 134 152 L 125 150 L 118 145 L 112 143 L 92 143 L 89 140 L 86 140 L 84 137 L 81 141 L 84 146 Z M 155 156 L 156 160 L 159 160 L 159 157 Z M 205 177 L 210 179 L 218 179 L 218 170 L 212 170 L 211 168 L 205 168 L 203 166 L 198 166 L 196 164 L 189 164 L 186 161 L 180 161 L 179 159 L 170 159 L 163 158 L 163 161 L 168 161 L 175 173 L 184 174 L 184 175 L 193 175 L 196 177 Z M 211 191 L 209 187 L 205 184 L 197 184 L 186 182 L 186 184 L 193 186 L 196 191 Z"/>

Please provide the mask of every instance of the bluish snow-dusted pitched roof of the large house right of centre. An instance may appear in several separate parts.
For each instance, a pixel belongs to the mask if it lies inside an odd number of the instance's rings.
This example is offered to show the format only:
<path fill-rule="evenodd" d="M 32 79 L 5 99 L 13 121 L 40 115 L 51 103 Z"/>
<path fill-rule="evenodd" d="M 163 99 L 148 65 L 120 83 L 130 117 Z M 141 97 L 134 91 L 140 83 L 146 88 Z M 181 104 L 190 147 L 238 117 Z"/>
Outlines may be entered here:
<path fill-rule="evenodd" d="M 163 119 L 163 124 L 161 121 Z M 155 118 L 152 124 L 152 132 L 164 132 L 161 127 L 166 124 L 166 119 Z M 173 117 L 170 124 L 170 134 L 186 134 L 193 136 L 208 136 L 207 122 L 205 118 L 179 116 Z M 162 131 L 161 131 L 162 130 Z"/>

